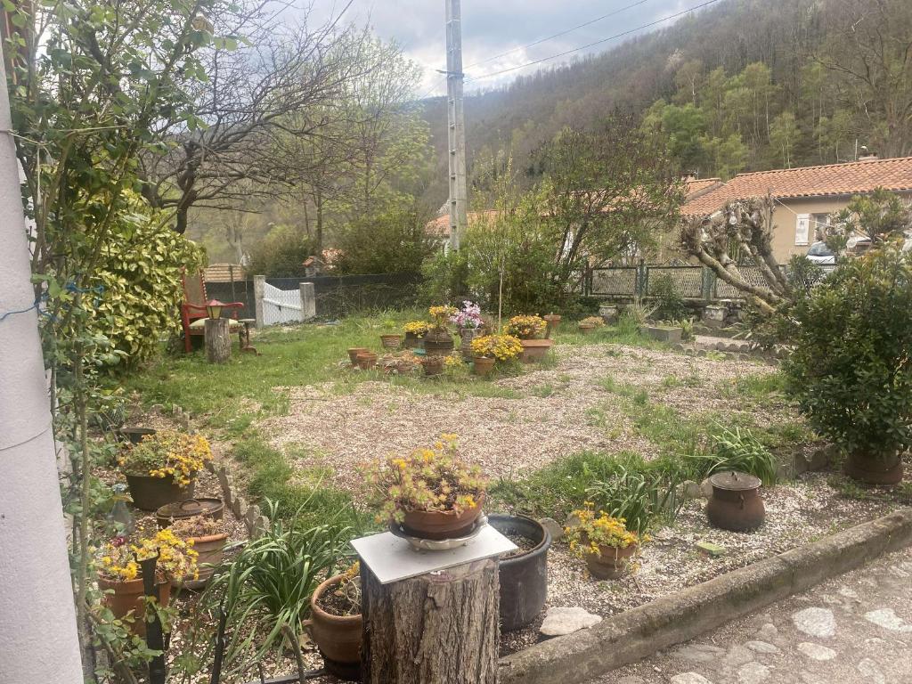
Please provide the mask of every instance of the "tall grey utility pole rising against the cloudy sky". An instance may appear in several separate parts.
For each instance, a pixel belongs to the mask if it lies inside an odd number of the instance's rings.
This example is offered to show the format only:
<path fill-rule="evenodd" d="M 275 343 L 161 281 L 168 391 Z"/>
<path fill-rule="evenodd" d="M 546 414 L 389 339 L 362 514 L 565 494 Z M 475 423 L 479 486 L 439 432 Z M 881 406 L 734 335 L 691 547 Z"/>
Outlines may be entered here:
<path fill-rule="evenodd" d="M 462 109 L 461 0 L 447 5 L 447 140 L 450 166 L 450 246 L 460 248 L 467 220 L 465 180 L 465 116 Z"/>

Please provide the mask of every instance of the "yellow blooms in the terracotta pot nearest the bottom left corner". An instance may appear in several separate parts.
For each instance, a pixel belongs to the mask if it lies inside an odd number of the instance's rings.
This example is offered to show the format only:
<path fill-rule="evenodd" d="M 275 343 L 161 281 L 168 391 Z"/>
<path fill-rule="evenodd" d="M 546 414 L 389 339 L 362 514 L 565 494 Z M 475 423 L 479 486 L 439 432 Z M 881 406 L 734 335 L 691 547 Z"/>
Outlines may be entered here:
<path fill-rule="evenodd" d="M 156 555 L 155 572 L 160 579 L 198 577 L 196 561 L 199 554 L 193 550 L 192 542 L 181 539 L 169 528 L 140 539 L 136 544 L 130 544 L 125 537 L 114 537 L 96 552 L 98 572 L 114 582 L 138 579 L 142 575 L 140 561 Z"/>

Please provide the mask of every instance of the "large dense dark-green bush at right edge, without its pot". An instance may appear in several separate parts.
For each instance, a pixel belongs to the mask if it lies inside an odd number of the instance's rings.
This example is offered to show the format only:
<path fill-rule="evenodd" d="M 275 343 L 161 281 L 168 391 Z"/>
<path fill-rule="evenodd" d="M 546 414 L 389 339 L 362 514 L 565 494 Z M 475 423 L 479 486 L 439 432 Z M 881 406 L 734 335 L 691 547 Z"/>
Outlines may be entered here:
<path fill-rule="evenodd" d="M 840 264 L 794 307 L 786 389 L 846 451 L 912 446 L 912 254 L 889 244 Z"/>

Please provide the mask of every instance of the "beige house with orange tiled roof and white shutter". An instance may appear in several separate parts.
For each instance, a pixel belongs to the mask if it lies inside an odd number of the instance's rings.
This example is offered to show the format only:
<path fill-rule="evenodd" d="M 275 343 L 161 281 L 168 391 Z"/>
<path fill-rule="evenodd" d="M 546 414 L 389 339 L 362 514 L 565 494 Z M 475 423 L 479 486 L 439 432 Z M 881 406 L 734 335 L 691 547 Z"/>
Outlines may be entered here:
<path fill-rule="evenodd" d="M 845 209 L 853 196 L 878 187 L 912 200 L 912 157 L 871 156 L 843 164 L 739 173 L 731 181 L 689 198 L 681 213 L 690 219 L 710 216 L 726 202 L 771 194 L 772 251 L 785 264 L 793 254 L 807 253 L 831 213 Z"/>

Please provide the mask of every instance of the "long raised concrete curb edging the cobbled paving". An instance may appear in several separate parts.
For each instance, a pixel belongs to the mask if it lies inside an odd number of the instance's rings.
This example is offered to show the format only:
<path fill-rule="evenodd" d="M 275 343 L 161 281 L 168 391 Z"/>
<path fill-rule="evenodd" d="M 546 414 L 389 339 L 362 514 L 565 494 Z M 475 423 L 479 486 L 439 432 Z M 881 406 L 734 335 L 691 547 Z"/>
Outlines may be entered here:
<path fill-rule="evenodd" d="M 501 658 L 501 684 L 586 682 L 912 544 L 912 508 Z"/>

